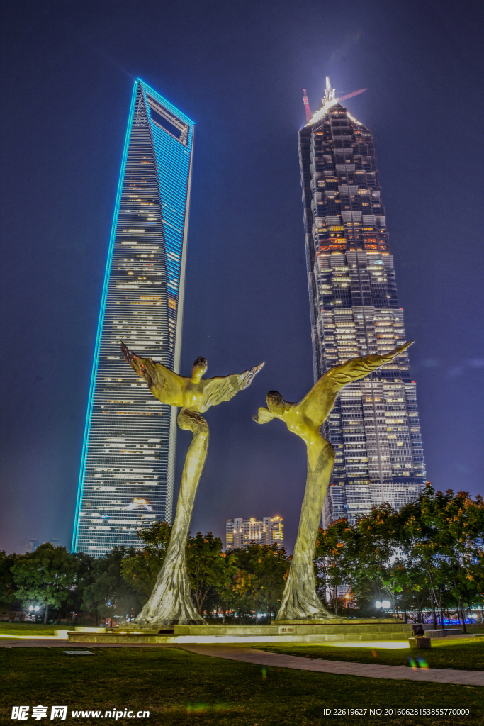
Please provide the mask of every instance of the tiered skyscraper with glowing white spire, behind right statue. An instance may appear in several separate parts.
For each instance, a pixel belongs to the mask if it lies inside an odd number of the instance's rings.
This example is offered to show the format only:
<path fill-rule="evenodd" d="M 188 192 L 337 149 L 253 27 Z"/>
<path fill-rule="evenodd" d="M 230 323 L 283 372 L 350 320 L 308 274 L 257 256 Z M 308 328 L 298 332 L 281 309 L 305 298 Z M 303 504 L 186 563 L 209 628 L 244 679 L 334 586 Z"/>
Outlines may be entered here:
<path fill-rule="evenodd" d="M 406 339 L 371 131 L 338 103 L 329 78 L 322 102 L 299 132 L 315 380 Z M 324 436 L 336 452 L 324 526 L 416 499 L 425 467 L 408 354 L 346 386 Z"/>

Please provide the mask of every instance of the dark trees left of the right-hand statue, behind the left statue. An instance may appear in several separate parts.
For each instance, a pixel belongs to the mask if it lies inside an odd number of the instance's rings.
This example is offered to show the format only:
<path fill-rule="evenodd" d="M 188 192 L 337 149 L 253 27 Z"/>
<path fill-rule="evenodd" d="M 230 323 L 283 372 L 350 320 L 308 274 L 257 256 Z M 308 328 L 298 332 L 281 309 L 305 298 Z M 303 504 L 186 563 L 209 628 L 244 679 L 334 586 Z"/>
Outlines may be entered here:
<path fill-rule="evenodd" d="M 154 522 L 138 531 L 140 549 L 114 547 L 99 559 L 48 542 L 26 555 L 0 552 L 0 611 L 4 616 L 28 613 L 38 605 L 38 619 L 44 622 L 73 613 L 76 621 L 91 624 L 131 619 L 155 586 L 170 535 L 170 524 Z M 224 620 L 237 613 L 237 620 L 245 622 L 253 619 L 254 610 L 275 616 L 290 558 L 276 544 L 223 552 L 221 539 L 198 532 L 188 538 L 187 566 L 201 613 L 218 610 Z"/>

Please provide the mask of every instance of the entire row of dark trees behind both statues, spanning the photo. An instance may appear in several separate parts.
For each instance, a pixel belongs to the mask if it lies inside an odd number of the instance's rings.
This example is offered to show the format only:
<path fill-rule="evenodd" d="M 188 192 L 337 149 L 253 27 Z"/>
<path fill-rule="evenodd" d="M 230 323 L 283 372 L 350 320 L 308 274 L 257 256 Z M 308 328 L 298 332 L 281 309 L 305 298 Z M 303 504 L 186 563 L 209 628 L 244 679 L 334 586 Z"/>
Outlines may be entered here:
<path fill-rule="evenodd" d="M 152 523 L 139 530 L 139 549 L 115 547 L 100 559 L 49 543 L 26 555 L 1 552 L 0 610 L 38 605 L 44 622 L 70 613 L 91 624 L 131 619 L 155 585 L 170 534 L 171 525 Z M 483 608 L 483 534 L 482 497 L 429 485 L 400 512 L 384 505 L 354 526 L 340 519 L 320 529 L 319 595 L 339 615 L 374 616 L 375 602 L 388 600 L 405 619 L 411 611 L 422 621 L 425 610 L 437 626 L 455 611 L 464 621 L 469 608 Z M 198 610 L 243 623 L 276 615 L 290 556 L 276 544 L 223 552 L 221 539 L 198 532 L 188 539 L 187 565 Z"/>

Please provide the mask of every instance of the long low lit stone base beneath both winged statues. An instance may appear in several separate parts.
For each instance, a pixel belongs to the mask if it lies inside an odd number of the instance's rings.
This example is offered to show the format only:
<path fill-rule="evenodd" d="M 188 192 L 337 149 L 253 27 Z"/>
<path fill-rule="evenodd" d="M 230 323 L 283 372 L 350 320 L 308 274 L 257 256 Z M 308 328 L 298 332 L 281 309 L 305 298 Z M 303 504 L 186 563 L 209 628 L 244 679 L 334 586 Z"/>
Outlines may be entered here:
<path fill-rule="evenodd" d="M 160 632 L 161 631 L 161 632 Z M 168 631 L 168 632 L 167 632 Z M 139 645 L 257 645 L 258 643 L 354 643 L 367 647 L 378 643 L 408 647 L 411 625 L 388 619 L 342 621 L 277 621 L 271 625 L 174 625 L 173 628 L 144 629 L 76 628 L 67 633 L 69 643 L 138 643 Z M 391 647 L 391 646 L 390 646 Z M 398 647 L 395 645 L 394 647 Z"/>

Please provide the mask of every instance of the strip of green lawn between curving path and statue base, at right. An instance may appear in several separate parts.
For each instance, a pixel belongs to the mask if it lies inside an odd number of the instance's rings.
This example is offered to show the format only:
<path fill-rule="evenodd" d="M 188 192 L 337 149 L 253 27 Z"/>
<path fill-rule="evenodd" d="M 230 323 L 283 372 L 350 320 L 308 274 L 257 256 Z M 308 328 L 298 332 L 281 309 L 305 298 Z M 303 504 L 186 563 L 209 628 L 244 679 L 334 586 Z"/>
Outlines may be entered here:
<path fill-rule="evenodd" d="M 459 668 L 464 670 L 484 670 L 484 637 L 475 640 L 433 639 L 430 650 L 411 648 L 343 648 L 336 645 L 311 645 L 308 643 L 279 643 L 261 645 L 260 650 L 271 653 L 284 653 L 288 656 L 306 658 L 325 658 L 329 661 L 353 661 L 353 663 L 381 663 L 389 666 L 409 666 L 409 658 L 417 663 L 423 658 L 429 668 Z"/>

